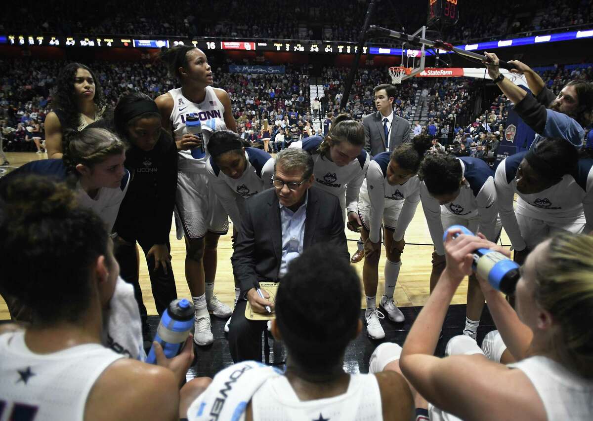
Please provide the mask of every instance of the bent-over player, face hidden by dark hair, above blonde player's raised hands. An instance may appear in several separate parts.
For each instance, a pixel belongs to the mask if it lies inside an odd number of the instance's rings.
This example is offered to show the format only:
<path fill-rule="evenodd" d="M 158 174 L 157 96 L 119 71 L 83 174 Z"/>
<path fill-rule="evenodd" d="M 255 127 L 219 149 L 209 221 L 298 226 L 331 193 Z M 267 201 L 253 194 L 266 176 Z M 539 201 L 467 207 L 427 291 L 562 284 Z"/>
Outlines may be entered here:
<path fill-rule="evenodd" d="M 420 198 L 431 233 L 431 291 L 445 265 L 443 233 L 451 225 L 466 226 L 496 242 L 502 225 L 495 206 L 496 190 L 492 169 L 479 158 L 429 155 L 420 165 Z M 467 314 L 464 335 L 476 339 L 484 308 L 484 295 L 475 276 L 467 287 Z"/>

